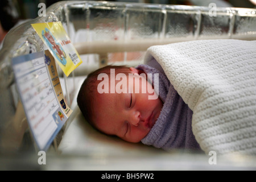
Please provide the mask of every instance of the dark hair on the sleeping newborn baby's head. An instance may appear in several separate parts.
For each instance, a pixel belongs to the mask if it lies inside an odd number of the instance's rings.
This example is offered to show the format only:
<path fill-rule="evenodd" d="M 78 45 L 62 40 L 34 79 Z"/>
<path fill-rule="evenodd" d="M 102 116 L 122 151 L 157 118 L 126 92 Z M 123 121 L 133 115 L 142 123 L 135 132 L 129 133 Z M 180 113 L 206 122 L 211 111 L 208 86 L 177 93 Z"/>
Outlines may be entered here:
<path fill-rule="evenodd" d="M 118 73 L 131 73 L 129 67 L 125 65 L 107 65 L 90 73 L 84 80 L 79 90 L 77 96 L 77 104 L 84 115 L 86 121 L 88 121 L 92 126 L 95 126 L 93 121 L 93 100 L 97 97 L 97 86 L 101 80 L 98 80 L 98 75 L 100 73 L 106 73 L 110 77 L 110 69 L 115 69 L 115 75 Z"/>

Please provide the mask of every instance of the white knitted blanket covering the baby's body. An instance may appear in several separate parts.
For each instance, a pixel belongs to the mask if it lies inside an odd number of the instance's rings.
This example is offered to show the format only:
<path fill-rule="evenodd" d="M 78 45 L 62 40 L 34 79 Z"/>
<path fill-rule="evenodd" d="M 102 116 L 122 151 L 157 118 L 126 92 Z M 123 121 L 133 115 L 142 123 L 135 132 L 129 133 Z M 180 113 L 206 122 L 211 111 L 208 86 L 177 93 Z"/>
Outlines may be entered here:
<path fill-rule="evenodd" d="M 192 130 L 208 154 L 256 154 L 256 41 L 197 40 L 150 47 L 193 110 Z"/>

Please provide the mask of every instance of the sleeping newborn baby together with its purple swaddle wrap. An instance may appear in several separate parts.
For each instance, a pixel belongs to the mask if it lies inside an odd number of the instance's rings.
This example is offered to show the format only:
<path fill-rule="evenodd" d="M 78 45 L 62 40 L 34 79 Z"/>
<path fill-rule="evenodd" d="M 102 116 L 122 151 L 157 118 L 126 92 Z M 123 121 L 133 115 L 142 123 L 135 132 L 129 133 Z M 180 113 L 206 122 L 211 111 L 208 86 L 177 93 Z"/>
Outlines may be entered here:
<path fill-rule="evenodd" d="M 149 65 L 97 69 L 81 85 L 77 104 L 97 130 L 127 142 L 164 150 L 200 148 L 192 134 L 192 111 L 161 69 Z"/>

